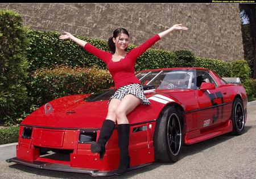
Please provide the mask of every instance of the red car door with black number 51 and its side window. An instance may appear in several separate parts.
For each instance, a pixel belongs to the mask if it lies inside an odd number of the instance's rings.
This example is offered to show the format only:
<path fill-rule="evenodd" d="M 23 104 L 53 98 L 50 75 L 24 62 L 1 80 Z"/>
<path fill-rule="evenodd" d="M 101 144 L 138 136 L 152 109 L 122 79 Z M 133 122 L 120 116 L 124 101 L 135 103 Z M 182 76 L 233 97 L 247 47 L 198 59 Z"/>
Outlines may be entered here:
<path fill-rule="evenodd" d="M 200 86 L 203 82 L 214 84 L 215 89 L 201 90 Z M 225 121 L 224 111 L 226 102 L 226 91 L 223 88 L 218 88 L 214 78 L 208 70 L 196 70 L 196 86 L 195 95 L 199 106 L 199 127 L 200 129 L 213 127 Z"/>

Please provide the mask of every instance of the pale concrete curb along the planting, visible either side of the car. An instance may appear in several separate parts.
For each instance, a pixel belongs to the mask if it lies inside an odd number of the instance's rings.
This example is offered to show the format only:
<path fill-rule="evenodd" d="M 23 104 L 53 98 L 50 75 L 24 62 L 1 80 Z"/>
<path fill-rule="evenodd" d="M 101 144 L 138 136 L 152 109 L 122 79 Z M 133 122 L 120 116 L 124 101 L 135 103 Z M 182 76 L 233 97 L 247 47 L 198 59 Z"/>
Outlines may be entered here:
<path fill-rule="evenodd" d="M 250 101 L 247 106 L 256 106 L 256 101 Z M 10 143 L 0 145 L 0 161 L 7 160 L 16 156 L 16 145 L 18 143 Z"/>

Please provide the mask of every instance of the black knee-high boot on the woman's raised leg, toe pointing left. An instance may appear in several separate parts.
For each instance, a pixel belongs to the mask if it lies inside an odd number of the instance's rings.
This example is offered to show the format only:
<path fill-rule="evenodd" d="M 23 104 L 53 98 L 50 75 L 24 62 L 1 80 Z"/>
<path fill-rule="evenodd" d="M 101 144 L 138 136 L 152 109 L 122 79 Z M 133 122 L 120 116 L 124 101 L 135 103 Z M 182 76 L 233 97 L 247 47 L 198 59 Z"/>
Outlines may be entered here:
<path fill-rule="evenodd" d="M 104 157 L 106 151 L 105 145 L 109 140 L 110 136 L 112 135 L 114 128 L 115 122 L 113 120 L 104 120 L 97 143 L 95 141 L 92 141 L 92 144 L 90 145 L 90 151 L 92 151 L 93 153 L 100 153 L 100 160 L 102 160 Z"/>

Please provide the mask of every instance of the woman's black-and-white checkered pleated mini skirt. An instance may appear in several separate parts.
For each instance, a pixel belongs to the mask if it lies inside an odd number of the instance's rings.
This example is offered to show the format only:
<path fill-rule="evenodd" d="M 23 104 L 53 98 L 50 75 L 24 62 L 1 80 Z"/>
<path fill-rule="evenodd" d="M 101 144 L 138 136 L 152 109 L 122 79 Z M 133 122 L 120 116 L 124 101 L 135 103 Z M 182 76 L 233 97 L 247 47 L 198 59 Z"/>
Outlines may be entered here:
<path fill-rule="evenodd" d="M 142 105 L 150 105 L 150 101 L 145 97 L 143 86 L 141 84 L 130 84 L 118 88 L 112 97 L 109 98 L 108 105 L 113 98 L 120 99 L 122 101 L 126 94 L 133 94 L 135 97 L 141 99 Z"/>

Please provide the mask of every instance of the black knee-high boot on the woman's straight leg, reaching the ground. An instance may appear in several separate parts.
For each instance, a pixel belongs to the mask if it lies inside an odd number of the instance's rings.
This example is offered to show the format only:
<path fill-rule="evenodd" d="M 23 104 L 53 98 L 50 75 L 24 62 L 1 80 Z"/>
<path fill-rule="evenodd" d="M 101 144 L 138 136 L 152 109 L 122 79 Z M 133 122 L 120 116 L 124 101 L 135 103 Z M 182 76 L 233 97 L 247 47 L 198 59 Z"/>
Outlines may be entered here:
<path fill-rule="evenodd" d="M 118 146 L 120 149 L 120 161 L 118 169 L 114 174 L 121 175 L 127 172 L 130 167 L 129 156 L 129 137 L 130 137 L 130 124 L 118 124 Z"/>

